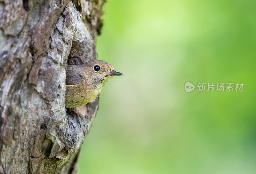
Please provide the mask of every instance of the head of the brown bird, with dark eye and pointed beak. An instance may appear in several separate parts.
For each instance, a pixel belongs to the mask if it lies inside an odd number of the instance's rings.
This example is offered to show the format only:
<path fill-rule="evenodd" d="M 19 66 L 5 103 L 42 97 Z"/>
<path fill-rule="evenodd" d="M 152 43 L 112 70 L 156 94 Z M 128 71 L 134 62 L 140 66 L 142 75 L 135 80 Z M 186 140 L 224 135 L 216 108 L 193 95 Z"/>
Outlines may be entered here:
<path fill-rule="evenodd" d="M 84 63 L 86 82 L 94 90 L 101 91 L 102 87 L 114 75 L 123 75 L 116 72 L 115 69 L 108 62 L 103 60 L 91 60 Z"/>

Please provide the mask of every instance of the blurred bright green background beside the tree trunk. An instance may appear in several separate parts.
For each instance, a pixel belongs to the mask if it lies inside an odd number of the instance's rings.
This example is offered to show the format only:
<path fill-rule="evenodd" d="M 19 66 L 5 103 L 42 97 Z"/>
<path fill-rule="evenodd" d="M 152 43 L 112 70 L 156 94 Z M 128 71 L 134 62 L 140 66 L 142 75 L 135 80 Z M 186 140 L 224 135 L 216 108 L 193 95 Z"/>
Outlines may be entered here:
<path fill-rule="evenodd" d="M 100 93 L 80 174 L 255 174 L 256 1 L 109 0 Z M 243 92 L 184 84 L 244 83 Z"/>

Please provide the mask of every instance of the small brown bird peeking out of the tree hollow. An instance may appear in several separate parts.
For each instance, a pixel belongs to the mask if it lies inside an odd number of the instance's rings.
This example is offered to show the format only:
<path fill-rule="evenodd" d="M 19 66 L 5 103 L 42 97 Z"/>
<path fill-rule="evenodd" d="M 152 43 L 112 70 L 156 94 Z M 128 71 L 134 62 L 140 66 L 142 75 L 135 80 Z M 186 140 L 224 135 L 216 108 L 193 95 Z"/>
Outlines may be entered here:
<path fill-rule="evenodd" d="M 123 75 L 103 60 L 91 60 L 82 65 L 68 65 L 66 76 L 66 107 L 89 103 L 114 75 Z"/>

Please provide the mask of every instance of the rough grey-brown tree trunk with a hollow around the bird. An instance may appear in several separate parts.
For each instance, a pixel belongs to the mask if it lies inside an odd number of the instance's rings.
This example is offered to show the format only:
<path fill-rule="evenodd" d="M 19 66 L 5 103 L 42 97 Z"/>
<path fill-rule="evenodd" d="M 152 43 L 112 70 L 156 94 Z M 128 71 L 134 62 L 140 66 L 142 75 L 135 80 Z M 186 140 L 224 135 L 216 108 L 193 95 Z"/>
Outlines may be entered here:
<path fill-rule="evenodd" d="M 65 109 L 66 67 L 97 59 L 105 0 L 0 0 L 0 173 L 77 173 L 99 105 Z"/>

